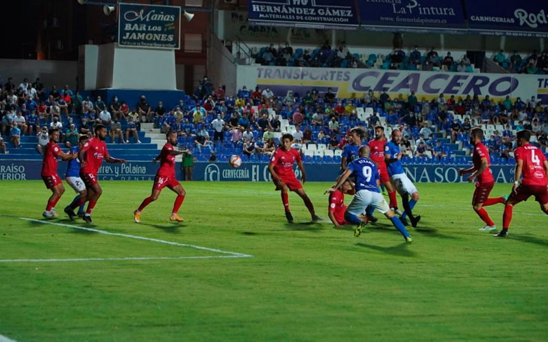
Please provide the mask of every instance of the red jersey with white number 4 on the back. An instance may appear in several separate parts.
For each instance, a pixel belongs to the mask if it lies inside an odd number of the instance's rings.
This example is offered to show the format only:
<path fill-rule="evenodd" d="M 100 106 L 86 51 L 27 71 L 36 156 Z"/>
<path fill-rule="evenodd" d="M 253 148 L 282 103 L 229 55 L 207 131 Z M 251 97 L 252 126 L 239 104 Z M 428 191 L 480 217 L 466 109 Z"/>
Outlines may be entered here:
<path fill-rule="evenodd" d="M 524 144 L 514 150 L 516 160 L 523 161 L 521 174 L 523 179 L 521 184 L 525 185 L 546 185 L 546 173 L 544 162 L 546 157 L 544 153 L 530 144 Z"/>

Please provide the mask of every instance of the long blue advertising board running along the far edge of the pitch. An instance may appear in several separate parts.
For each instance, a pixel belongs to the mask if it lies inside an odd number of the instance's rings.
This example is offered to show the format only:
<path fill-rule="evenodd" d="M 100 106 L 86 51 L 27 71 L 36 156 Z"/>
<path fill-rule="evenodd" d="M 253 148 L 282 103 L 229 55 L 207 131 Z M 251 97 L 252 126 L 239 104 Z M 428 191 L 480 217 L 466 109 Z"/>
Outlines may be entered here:
<path fill-rule="evenodd" d="M 0 160 L 0 180 L 40 180 L 42 161 L 10 161 Z M 335 181 L 339 172 L 336 163 L 306 164 L 307 181 Z M 469 168 L 470 165 L 430 165 L 408 164 L 404 166 L 406 173 L 417 183 L 465 183 L 467 176 L 459 176 L 458 170 Z M 177 176 L 182 179 L 177 163 Z M 66 163 L 59 163 L 58 173 L 64 175 Z M 150 161 L 130 161 L 126 164 L 104 163 L 99 170 L 101 181 L 153 181 L 158 165 Z M 491 166 L 493 176 L 498 183 L 514 181 L 514 166 Z M 295 168 L 297 178 L 301 178 L 300 170 Z M 240 168 L 232 168 L 227 162 L 206 163 L 197 162 L 192 172 L 194 181 L 272 181 L 268 163 L 244 162 Z M 64 176 L 62 176 L 64 179 Z"/>

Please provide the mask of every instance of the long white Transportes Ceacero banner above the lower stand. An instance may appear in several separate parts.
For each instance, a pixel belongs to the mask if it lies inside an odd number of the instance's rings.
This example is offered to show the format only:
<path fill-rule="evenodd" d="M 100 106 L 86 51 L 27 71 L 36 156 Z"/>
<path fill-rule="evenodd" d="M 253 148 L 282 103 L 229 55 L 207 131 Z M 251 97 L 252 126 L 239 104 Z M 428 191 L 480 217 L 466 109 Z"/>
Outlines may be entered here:
<path fill-rule="evenodd" d="M 501 101 L 537 96 L 548 105 L 546 75 L 447 73 L 417 70 L 294 68 L 283 66 L 238 66 L 238 89 L 269 86 L 277 96 L 288 90 L 306 94 L 316 89 L 323 94 L 332 88 L 338 98 L 362 98 L 369 90 L 378 96 L 387 89 L 390 96 L 406 98 L 411 91 L 421 100 L 432 100 L 440 93 L 456 98 L 477 94 Z"/>

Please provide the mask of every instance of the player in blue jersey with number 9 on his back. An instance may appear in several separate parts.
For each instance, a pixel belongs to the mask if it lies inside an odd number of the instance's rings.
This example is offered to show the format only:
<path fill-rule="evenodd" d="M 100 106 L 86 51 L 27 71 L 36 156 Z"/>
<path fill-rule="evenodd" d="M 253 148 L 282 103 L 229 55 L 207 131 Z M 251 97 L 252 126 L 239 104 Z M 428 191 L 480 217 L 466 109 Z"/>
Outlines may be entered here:
<path fill-rule="evenodd" d="M 386 218 L 392 221 L 392 224 L 403 235 L 403 238 L 411 242 L 413 240 L 408 231 L 406 231 L 406 227 L 403 226 L 399 218 L 390 210 L 388 203 L 379 191 L 379 169 L 377 168 L 377 164 L 369 159 L 370 153 L 369 146 L 364 145 L 360 147 L 358 159 L 354 159 L 348 164 L 347 170 L 340 175 L 336 185 L 327 191 L 335 192 L 345 183 L 349 176 L 356 177 L 356 194 L 345 211 L 345 220 L 357 225 L 354 236 L 359 237 L 362 234 L 362 228 L 366 225 L 365 222 L 358 218 L 358 215 L 361 215 L 366 207 L 371 206 L 384 213 Z"/>

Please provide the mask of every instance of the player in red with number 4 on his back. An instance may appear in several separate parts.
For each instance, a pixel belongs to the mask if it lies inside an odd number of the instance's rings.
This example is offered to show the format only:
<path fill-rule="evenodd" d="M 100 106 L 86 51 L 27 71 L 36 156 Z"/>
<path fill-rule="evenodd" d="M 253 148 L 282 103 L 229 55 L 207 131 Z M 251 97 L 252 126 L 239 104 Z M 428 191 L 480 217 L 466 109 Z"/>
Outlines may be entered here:
<path fill-rule="evenodd" d="M 530 131 L 519 131 L 516 138 L 518 147 L 514 150 L 514 186 L 504 207 L 502 231 L 495 234 L 495 237 L 508 237 L 514 205 L 527 200 L 530 196 L 535 196 L 535 200 L 540 204 L 540 210 L 548 214 L 548 161 L 541 150 L 529 144 Z M 523 177 L 520 184 L 521 176 Z"/>

